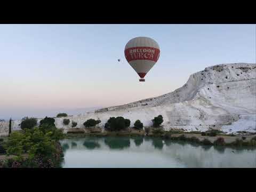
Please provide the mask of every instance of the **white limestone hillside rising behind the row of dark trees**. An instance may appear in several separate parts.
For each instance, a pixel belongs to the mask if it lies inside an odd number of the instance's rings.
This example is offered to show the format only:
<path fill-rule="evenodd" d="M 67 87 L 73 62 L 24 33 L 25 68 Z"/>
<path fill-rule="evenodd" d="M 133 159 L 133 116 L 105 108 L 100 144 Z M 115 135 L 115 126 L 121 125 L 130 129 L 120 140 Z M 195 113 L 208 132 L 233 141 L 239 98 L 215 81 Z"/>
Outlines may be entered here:
<path fill-rule="evenodd" d="M 131 125 L 140 119 L 145 126 L 157 115 L 164 118 L 164 128 L 205 131 L 209 128 L 228 133 L 256 132 L 256 64 L 230 63 L 207 67 L 190 75 L 179 89 L 155 98 L 148 98 L 122 106 L 95 110 L 95 112 L 68 117 L 82 127 L 89 119 L 101 119 L 104 126 L 109 117 L 123 116 Z M 39 120 L 38 120 L 39 121 Z M 63 118 L 55 118 L 59 128 Z M 19 129 L 20 121 L 14 122 Z M 2 123 L 3 124 L 3 123 Z M 5 130 L 0 122 L 0 134 Z"/>

